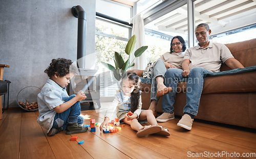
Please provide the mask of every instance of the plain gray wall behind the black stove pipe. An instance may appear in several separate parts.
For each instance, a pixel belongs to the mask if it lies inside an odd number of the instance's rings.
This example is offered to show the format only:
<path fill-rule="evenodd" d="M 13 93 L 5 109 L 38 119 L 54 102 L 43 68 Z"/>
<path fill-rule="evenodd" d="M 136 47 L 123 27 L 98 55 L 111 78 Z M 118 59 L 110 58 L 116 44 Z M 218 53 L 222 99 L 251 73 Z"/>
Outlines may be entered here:
<path fill-rule="evenodd" d="M 10 80 L 9 107 L 17 107 L 19 90 L 42 88 L 53 58 L 76 60 L 77 18 L 80 5 L 87 14 L 86 68 L 93 69 L 95 54 L 95 0 L 0 0 L 0 64 L 3 80 Z M 87 60 L 90 59 L 90 60 Z M 3 97 L 2 97 L 3 101 Z"/>

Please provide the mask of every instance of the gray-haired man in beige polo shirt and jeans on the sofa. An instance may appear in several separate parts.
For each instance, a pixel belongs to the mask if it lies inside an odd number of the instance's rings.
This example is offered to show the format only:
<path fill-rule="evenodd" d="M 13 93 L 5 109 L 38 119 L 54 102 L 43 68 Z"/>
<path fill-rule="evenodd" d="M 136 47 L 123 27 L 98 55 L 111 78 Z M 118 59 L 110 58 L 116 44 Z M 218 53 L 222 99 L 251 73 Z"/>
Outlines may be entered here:
<path fill-rule="evenodd" d="M 207 24 L 198 25 L 195 34 L 199 43 L 198 46 L 187 49 L 182 63 L 183 70 L 172 68 L 165 73 L 164 84 L 167 87 L 173 87 L 173 91 L 163 96 L 163 113 L 157 118 L 158 122 L 174 119 L 173 104 L 179 80 L 188 78 L 186 105 L 183 108 L 184 115 L 177 125 L 191 130 L 194 117 L 198 113 L 206 74 L 219 72 L 222 63 L 225 63 L 231 69 L 244 68 L 224 44 L 209 41 L 210 33 L 211 30 Z"/>

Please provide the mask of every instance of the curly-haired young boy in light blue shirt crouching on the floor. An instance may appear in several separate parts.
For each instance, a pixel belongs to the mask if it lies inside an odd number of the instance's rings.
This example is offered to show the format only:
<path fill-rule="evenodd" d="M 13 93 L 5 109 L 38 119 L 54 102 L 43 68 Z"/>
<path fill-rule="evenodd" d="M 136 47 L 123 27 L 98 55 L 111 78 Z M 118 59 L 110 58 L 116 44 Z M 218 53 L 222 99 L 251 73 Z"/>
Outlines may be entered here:
<path fill-rule="evenodd" d="M 49 76 L 47 83 L 37 95 L 39 117 L 37 123 L 46 128 L 47 134 L 53 136 L 61 130 L 66 134 L 82 133 L 88 130 L 81 126 L 80 101 L 86 95 L 78 94 L 69 97 L 66 87 L 70 79 L 77 74 L 77 67 L 71 60 L 53 59 L 45 73 Z"/>

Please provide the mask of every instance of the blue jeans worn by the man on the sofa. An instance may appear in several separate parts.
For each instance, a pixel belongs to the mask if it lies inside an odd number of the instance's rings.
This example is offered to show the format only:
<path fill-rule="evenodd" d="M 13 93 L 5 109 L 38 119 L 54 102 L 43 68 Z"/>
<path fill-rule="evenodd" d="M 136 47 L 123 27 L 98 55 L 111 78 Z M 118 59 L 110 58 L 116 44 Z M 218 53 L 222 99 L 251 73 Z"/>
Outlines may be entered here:
<path fill-rule="evenodd" d="M 174 102 L 176 98 L 178 81 L 183 80 L 183 70 L 181 69 L 168 69 L 165 73 L 164 84 L 165 86 L 173 87 L 173 91 L 163 96 L 162 108 L 164 112 L 173 113 Z M 186 105 L 183 108 L 183 113 L 187 112 L 193 116 L 197 116 L 199 102 L 203 90 L 204 78 L 209 71 L 201 67 L 194 67 L 187 79 L 186 87 Z"/>

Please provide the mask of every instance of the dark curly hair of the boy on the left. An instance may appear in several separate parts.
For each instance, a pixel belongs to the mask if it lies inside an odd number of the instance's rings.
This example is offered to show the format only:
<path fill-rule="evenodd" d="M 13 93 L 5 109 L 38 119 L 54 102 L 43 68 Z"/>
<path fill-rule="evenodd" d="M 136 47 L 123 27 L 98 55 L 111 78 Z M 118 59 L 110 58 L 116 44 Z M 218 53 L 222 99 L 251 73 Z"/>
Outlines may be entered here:
<path fill-rule="evenodd" d="M 69 73 L 76 75 L 78 72 L 75 64 L 72 64 L 72 61 L 65 58 L 52 59 L 52 62 L 45 70 L 45 73 L 49 77 L 54 76 L 56 73 L 59 77 L 66 76 Z"/>

